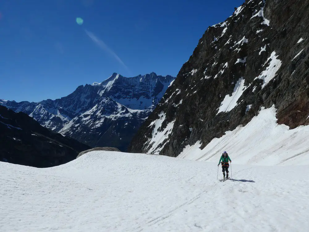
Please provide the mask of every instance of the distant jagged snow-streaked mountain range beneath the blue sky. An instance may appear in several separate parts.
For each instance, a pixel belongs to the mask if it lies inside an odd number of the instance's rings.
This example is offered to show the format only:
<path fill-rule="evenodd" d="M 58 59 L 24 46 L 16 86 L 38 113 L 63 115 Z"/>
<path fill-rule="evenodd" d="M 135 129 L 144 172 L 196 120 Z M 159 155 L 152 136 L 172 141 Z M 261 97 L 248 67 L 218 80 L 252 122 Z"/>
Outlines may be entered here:
<path fill-rule="evenodd" d="M 174 79 L 154 72 L 130 78 L 113 73 L 101 83 L 78 86 L 60 99 L 38 103 L 2 100 L 0 104 L 91 147 L 124 151 Z"/>

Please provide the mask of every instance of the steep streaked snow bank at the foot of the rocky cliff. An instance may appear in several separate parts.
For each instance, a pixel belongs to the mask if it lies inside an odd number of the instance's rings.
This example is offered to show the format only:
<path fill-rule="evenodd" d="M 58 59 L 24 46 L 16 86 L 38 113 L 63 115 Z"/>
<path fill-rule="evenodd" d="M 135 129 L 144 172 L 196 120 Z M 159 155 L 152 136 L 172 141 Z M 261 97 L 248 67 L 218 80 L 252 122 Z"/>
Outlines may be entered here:
<path fill-rule="evenodd" d="M 218 154 L 227 151 L 235 164 L 309 165 L 308 138 L 309 126 L 289 130 L 278 125 L 276 109 L 271 107 L 262 109 L 246 126 L 213 139 L 203 150 L 199 141 L 187 145 L 178 157 L 216 161 Z"/>

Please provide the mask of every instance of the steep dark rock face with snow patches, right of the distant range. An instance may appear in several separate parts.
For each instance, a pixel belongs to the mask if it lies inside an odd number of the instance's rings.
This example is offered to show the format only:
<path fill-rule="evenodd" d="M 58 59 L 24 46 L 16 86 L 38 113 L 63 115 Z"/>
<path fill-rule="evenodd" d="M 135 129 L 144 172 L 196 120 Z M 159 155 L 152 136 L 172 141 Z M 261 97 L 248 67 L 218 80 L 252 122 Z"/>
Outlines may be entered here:
<path fill-rule="evenodd" d="M 279 124 L 308 125 L 308 25 L 308 0 L 246 0 L 206 30 L 129 151 L 202 149 L 272 105 Z"/>

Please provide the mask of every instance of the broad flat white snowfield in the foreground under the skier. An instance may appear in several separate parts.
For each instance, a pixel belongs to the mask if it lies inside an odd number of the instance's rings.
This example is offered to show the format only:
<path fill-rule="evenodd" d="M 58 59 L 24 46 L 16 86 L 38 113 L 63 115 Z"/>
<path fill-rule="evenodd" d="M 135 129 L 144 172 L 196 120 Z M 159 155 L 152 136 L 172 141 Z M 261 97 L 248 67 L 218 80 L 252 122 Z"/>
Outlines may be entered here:
<path fill-rule="evenodd" d="M 0 162 L 0 169 L 2 232 L 309 226 L 308 166 L 232 165 L 233 179 L 222 183 L 216 163 L 100 151 L 53 168 Z"/>

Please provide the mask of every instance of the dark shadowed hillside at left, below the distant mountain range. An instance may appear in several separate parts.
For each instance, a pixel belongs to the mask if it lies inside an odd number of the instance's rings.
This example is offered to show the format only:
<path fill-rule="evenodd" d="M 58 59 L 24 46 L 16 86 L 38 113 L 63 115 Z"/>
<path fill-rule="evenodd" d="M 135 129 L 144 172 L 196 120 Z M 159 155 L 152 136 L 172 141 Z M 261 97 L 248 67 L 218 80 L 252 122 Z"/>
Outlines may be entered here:
<path fill-rule="evenodd" d="M 90 147 L 0 105 L 0 161 L 39 168 L 72 161 Z"/>

